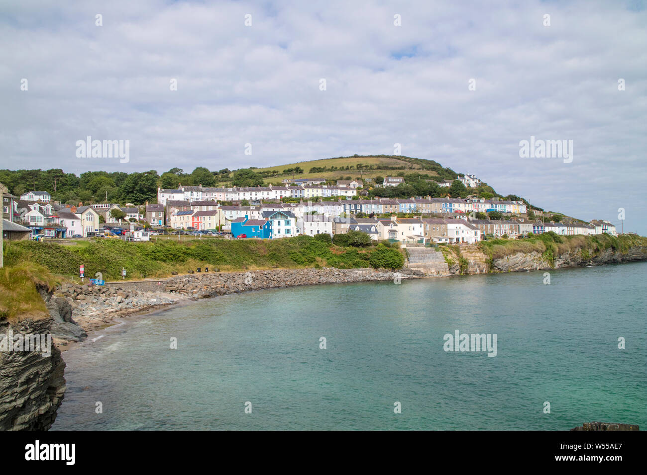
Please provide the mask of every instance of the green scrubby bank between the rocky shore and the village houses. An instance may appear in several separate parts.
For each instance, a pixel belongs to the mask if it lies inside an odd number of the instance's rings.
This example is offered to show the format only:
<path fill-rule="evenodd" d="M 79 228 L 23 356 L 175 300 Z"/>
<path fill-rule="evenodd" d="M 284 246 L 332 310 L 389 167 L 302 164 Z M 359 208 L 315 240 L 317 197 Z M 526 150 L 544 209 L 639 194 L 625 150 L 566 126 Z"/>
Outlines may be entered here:
<path fill-rule="evenodd" d="M 124 242 L 93 240 L 86 246 L 61 246 L 50 242 L 17 241 L 5 246 L 5 265 L 34 263 L 52 274 L 65 278 L 78 277 L 80 264 L 85 276 L 101 272 L 105 280 L 121 279 L 126 268 L 128 279 L 168 277 L 173 272 L 209 266 L 212 270 L 336 267 L 379 267 L 386 257 L 402 257 L 398 248 L 373 244 L 365 247 L 340 247 L 322 238 L 299 236 L 276 240 L 195 239 L 184 242 Z M 325 237 L 327 237 L 327 242 Z M 404 263 L 402 262 L 399 266 Z"/>

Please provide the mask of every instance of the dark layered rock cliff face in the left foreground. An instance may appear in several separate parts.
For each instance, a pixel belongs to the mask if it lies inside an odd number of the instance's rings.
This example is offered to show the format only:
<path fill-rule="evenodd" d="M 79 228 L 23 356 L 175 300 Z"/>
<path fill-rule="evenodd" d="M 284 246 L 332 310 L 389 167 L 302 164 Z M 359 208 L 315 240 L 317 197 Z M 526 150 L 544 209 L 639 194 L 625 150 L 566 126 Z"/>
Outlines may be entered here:
<path fill-rule="evenodd" d="M 25 319 L 0 322 L 0 338 L 14 335 L 44 335 L 52 320 Z M 48 430 L 65 394 L 65 363 L 52 343 L 51 355 L 41 352 L 0 352 L 0 430 Z"/>

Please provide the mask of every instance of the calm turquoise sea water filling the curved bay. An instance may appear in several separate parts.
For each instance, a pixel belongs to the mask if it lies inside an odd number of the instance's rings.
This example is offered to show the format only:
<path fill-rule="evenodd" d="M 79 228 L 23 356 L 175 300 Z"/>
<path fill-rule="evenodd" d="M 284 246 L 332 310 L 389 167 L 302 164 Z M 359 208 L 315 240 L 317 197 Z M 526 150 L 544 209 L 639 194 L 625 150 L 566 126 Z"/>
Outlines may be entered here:
<path fill-rule="evenodd" d="M 132 317 L 63 354 L 52 429 L 647 428 L 647 263 L 543 279 L 308 286 Z M 498 354 L 445 352 L 455 330 L 496 333 Z"/>

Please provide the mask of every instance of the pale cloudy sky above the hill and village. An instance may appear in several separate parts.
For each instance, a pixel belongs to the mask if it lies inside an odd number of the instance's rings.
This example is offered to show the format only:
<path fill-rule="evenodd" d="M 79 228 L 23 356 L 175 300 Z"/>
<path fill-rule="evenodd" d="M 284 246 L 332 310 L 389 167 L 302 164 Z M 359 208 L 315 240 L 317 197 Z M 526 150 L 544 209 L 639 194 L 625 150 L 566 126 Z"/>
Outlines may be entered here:
<path fill-rule="evenodd" d="M 620 227 L 622 208 L 647 235 L 646 26 L 635 0 L 3 2 L 0 168 L 161 174 L 400 144 L 547 210 Z M 87 136 L 128 140 L 128 162 L 78 156 Z M 572 160 L 520 156 L 531 136 Z"/>

